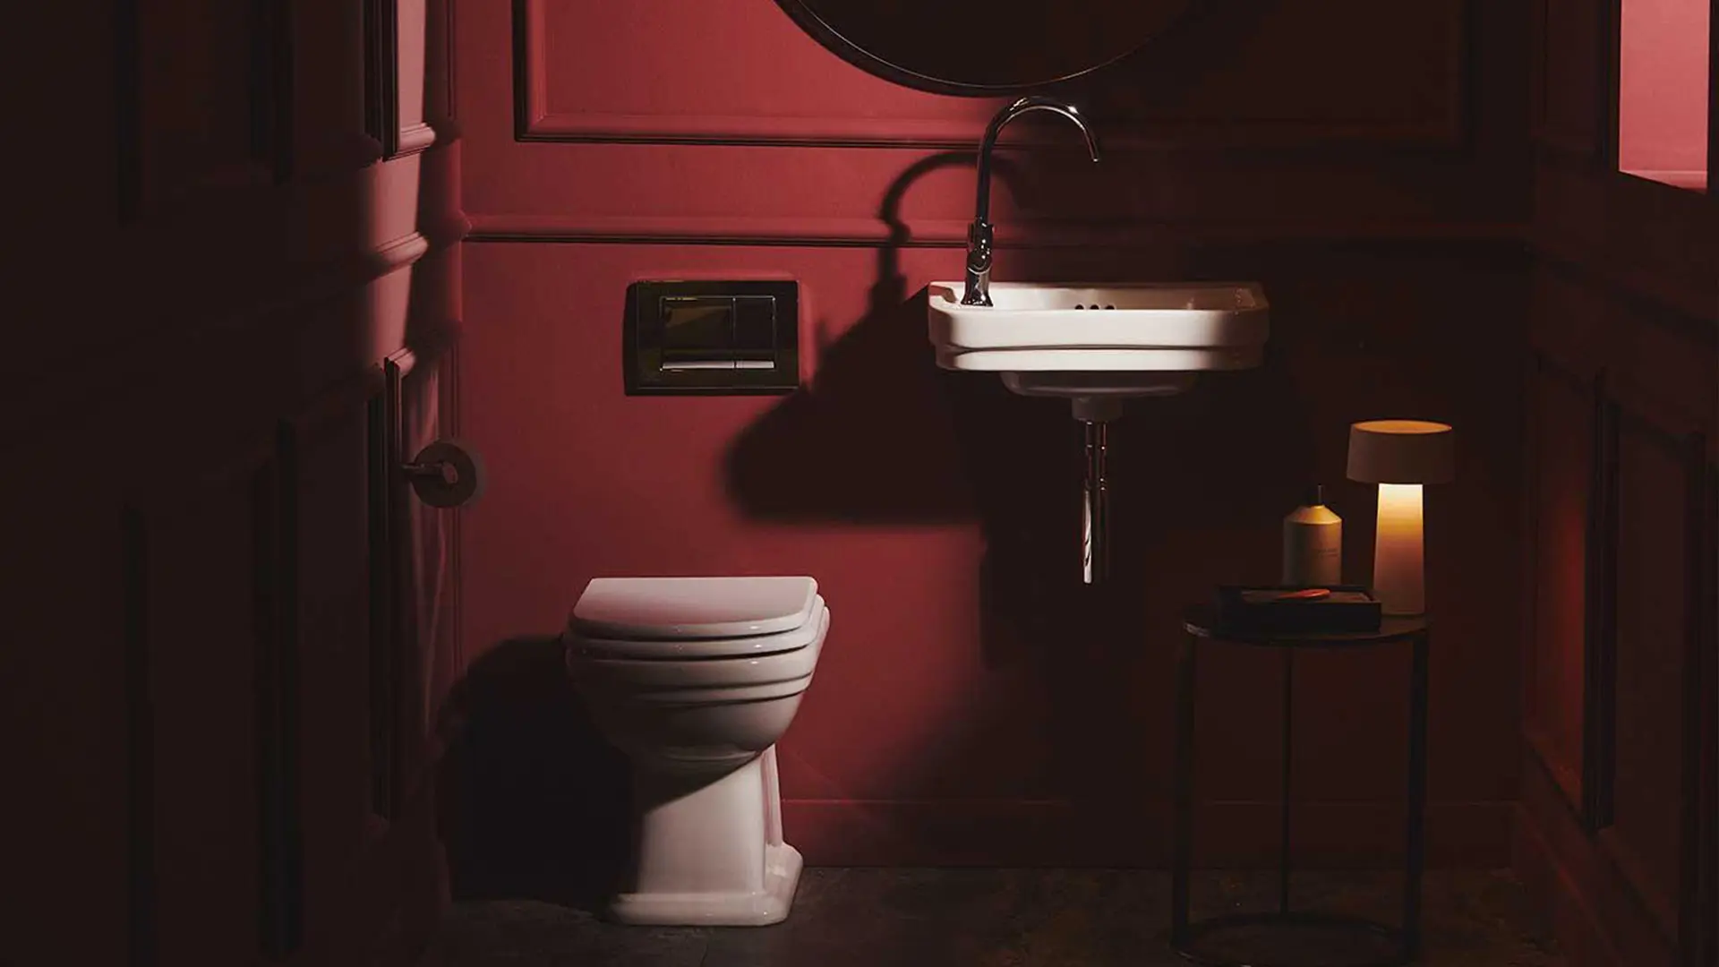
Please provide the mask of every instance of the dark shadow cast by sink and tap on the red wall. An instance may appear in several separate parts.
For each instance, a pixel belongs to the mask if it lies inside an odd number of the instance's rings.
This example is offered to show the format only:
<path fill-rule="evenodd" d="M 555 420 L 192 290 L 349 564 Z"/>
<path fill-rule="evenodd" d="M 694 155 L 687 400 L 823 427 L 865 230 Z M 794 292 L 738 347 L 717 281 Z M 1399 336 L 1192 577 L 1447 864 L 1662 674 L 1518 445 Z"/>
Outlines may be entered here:
<path fill-rule="evenodd" d="M 1031 191 L 1021 162 L 995 162 L 1000 182 Z M 1129 671 L 1164 657 L 1141 647 L 1145 611 L 1165 597 L 1183 604 L 1188 575 L 1260 576 L 1234 564 L 1224 540 L 1210 542 L 1212 561 L 1169 561 L 1157 547 L 1171 532 L 1203 528 L 1263 528 L 1263 542 L 1275 545 L 1279 521 L 1312 473 L 1308 420 L 1270 349 L 1260 370 L 1208 373 L 1183 396 L 1131 401 L 1110 428 L 1112 580 L 1083 585 L 1083 435 L 1069 404 L 1011 394 L 995 373 L 937 368 L 925 287 L 909 294 L 899 270 L 897 253 L 911 244 L 899 203 L 918 177 L 951 165 L 971 167 L 973 155 L 927 158 L 892 184 L 880 212 L 890 244 L 878 251 L 866 313 L 818 348 L 810 387 L 734 440 L 731 497 L 746 516 L 774 523 L 976 523 L 985 540 L 983 664 L 1026 666 L 1049 697 L 1059 793 L 1093 814 L 1128 809 L 1116 783 L 1140 778 L 1119 778 L 1117 748 L 1095 736 L 1143 742 L 1131 718 L 1140 714 L 1138 681 L 1160 676 Z M 1226 258 L 1193 275 L 1202 267 L 1150 249 L 1007 255 L 999 279 L 1217 279 L 1257 268 Z M 1267 566 L 1265 576 L 1275 576 L 1275 557 Z M 983 742 L 983 724 L 968 735 Z M 918 788 L 920 776 L 961 755 L 957 748 L 939 752 L 942 762 L 901 762 L 896 781 Z"/>

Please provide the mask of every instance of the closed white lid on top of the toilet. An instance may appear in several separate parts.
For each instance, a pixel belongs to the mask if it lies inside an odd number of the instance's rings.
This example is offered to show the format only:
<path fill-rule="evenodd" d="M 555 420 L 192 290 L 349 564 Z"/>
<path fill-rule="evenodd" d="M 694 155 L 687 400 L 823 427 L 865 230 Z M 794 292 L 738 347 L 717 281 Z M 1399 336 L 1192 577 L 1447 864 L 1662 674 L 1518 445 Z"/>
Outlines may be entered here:
<path fill-rule="evenodd" d="M 576 637 L 744 638 L 811 621 L 811 578 L 591 578 L 572 606 Z"/>

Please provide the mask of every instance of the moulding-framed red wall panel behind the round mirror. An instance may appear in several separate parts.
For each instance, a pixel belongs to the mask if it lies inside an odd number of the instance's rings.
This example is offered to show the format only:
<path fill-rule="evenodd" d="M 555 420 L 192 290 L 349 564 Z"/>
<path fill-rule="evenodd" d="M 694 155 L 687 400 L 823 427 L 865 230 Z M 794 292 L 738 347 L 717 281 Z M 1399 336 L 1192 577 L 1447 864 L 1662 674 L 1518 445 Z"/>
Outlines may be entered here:
<path fill-rule="evenodd" d="M 1210 14 L 1090 84 L 1086 108 L 1119 150 L 1162 150 L 1165 141 L 1454 146 L 1470 64 L 1466 15 L 1465 3 L 1447 0 Z M 1000 103 L 865 74 L 758 0 L 693 9 L 521 0 L 512 28 L 517 134 L 528 141 L 964 150 Z M 1392 41 L 1380 43 L 1384 36 Z M 1274 83 L 1260 86 L 1267 76 Z M 1370 83 L 1355 84 L 1358 76 Z M 1057 143 L 1054 129 L 1011 139 L 1045 143 L 1047 134 Z"/>

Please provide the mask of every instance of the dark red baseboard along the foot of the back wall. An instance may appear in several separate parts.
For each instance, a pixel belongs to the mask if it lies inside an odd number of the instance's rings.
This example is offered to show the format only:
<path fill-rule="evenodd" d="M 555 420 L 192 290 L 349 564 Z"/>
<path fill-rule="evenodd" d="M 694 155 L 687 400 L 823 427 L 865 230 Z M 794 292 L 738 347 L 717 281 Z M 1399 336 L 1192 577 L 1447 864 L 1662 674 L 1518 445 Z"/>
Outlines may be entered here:
<path fill-rule="evenodd" d="M 1277 862 L 1275 802 L 1207 802 L 1195 814 L 1195 864 Z M 1427 864 L 1509 865 L 1509 802 L 1427 805 Z M 810 865 L 1167 867 L 1169 802 L 1128 807 L 1064 800 L 786 800 L 787 840 Z M 1396 867 L 1403 804 L 1305 802 L 1291 814 L 1294 862 Z"/>

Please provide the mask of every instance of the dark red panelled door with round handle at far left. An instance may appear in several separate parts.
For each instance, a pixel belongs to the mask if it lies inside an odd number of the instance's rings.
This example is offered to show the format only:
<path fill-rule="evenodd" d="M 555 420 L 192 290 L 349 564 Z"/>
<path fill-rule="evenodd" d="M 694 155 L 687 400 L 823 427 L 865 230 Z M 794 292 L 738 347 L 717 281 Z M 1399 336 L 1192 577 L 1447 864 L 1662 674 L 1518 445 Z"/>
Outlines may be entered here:
<path fill-rule="evenodd" d="M 445 5 L 64 3 L 0 36 L 0 962 L 385 964 L 442 891 L 462 220 Z"/>

